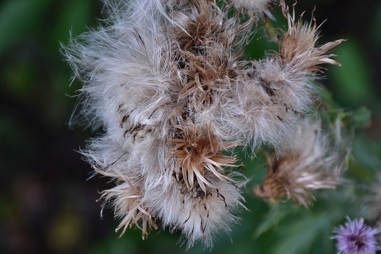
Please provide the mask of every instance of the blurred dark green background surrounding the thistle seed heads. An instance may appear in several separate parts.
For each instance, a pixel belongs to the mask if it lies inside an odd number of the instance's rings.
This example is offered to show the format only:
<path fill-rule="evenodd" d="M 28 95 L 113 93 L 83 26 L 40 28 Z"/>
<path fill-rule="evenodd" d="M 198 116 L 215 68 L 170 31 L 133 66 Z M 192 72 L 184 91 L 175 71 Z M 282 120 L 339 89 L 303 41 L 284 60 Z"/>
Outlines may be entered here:
<path fill-rule="evenodd" d="M 286 1 L 291 5 L 293 1 Z M 60 53 L 60 42 L 96 27 L 99 0 L 3 0 L 0 2 L 0 252 L 2 253 L 183 253 L 179 233 L 159 228 L 146 240 L 128 229 L 118 239 L 113 211 L 101 217 L 100 191 L 107 179 L 91 178 L 79 153 L 96 134 L 68 122 L 76 102 L 77 80 Z M 315 192 L 309 209 L 292 202 L 266 203 L 251 193 L 266 166 L 261 155 L 245 161 L 253 176 L 245 199 L 250 211 L 229 235 L 214 241 L 210 253 L 335 253 L 330 240 L 345 216 L 364 216 L 362 197 L 381 170 L 381 2 L 301 0 L 297 13 L 322 26 L 320 42 L 348 39 L 334 50 L 342 67 L 326 66 L 323 93 L 354 119 L 355 140 L 346 183 Z M 277 21 L 284 19 L 275 8 Z M 263 56 L 267 39 L 253 40 L 246 53 Z M 371 121 L 368 121 L 371 112 Z M 86 181 L 86 179 L 88 179 Z M 179 243 L 178 243 L 179 242 Z M 188 253 L 200 253 L 197 244 Z M 210 249 L 206 248 L 206 252 Z"/>

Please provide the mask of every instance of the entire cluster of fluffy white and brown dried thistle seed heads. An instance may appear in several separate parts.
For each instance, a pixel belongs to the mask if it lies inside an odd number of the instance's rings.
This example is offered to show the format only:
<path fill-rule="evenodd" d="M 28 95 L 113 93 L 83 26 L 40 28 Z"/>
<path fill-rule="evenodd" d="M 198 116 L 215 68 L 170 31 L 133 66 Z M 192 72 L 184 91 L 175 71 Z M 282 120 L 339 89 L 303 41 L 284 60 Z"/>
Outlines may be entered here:
<path fill-rule="evenodd" d="M 97 173 L 114 179 L 102 198 L 122 217 L 122 234 L 136 224 L 144 238 L 158 218 L 181 230 L 189 246 L 211 245 L 240 220 L 235 212 L 243 208 L 240 188 L 247 180 L 233 170 L 239 158 L 227 155 L 237 146 L 291 146 L 295 158 L 269 159 L 269 165 L 279 192 L 300 203 L 307 202 L 303 188 L 337 184 L 339 166 L 331 181 L 320 177 L 327 171 L 319 172 L 319 160 L 331 163 L 318 151 L 327 148 L 318 141 L 322 134 L 312 147 L 295 140 L 314 101 L 314 72 L 321 63 L 338 64 L 326 52 L 341 40 L 319 48 L 315 22 L 295 22 L 280 1 L 289 27 L 275 39 L 279 52 L 243 61 L 259 26 L 254 13 L 269 16 L 275 2 L 110 1 L 103 25 L 63 46 L 83 83 L 77 115 L 104 129 L 82 153 Z M 291 163 L 297 164 L 292 173 Z"/>

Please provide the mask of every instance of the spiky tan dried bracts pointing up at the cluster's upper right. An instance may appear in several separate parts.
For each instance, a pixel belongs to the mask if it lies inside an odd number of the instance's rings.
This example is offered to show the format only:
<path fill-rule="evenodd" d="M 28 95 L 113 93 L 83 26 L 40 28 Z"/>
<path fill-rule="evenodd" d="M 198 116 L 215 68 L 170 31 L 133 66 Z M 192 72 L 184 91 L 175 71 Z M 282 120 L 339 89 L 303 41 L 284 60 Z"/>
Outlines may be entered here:
<path fill-rule="evenodd" d="M 293 7 L 295 4 L 293 5 Z M 335 42 L 328 42 L 317 47 L 317 39 L 319 38 L 317 30 L 321 26 L 316 26 L 316 20 L 309 23 L 302 22 L 303 13 L 299 16 L 299 20 L 295 21 L 295 10 L 291 16 L 288 6 L 285 7 L 283 2 L 283 15 L 288 21 L 288 30 L 282 31 L 283 37 L 278 43 L 279 56 L 282 63 L 287 68 L 292 68 L 293 71 L 299 72 L 317 72 L 323 69 L 319 64 L 328 63 L 340 65 L 339 62 L 330 59 L 335 54 L 326 54 L 327 51 L 337 46 L 343 39 Z"/>

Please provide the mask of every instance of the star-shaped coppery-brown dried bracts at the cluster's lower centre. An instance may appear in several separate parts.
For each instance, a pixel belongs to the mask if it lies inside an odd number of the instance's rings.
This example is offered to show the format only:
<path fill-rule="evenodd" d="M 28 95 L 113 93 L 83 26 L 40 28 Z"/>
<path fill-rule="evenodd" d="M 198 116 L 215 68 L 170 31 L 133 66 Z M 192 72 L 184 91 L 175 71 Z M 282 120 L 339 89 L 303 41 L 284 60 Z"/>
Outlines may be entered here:
<path fill-rule="evenodd" d="M 239 141 L 219 141 L 210 125 L 205 129 L 199 129 L 194 124 L 188 123 L 187 126 L 174 125 L 174 128 L 182 131 L 179 135 L 181 138 L 169 141 L 170 144 L 175 144 L 175 147 L 168 155 L 168 159 L 176 157 L 176 177 L 177 179 L 179 176 L 182 177 L 189 190 L 194 190 L 194 177 L 197 178 L 197 184 L 205 193 L 207 190 L 204 184 L 217 188 L 205 179 L 206 171 L 212 172 L 221 181 L 233 181 L 225 176 L 222 166 L 237 166 L 234 165 L 237 161 L 236 157 L 223 155 L 218 151 L 236 147 L 240 145 Z"/>

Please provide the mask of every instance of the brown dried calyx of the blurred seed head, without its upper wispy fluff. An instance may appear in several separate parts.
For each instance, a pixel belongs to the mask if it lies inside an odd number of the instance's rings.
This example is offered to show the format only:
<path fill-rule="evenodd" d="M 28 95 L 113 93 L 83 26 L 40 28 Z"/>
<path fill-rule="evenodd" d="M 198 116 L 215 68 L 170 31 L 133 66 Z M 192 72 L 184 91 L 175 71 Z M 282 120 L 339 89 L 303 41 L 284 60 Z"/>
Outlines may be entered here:
<path fill-rule="evenodd" d="M 309 153 L 310 152 L 310 153 Z M 330 158 L 316 157 L 314 151 L 303 153 L 288 151 L 276 160 L 266 154 L 268 171 L 262 185 L 253 187 L 253 192 L 265 200 L 295 200 L 308 206 L 315 201 L 312 189 L 335 189 L 338 176 L 329 173 Z"/>

